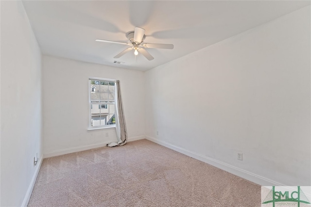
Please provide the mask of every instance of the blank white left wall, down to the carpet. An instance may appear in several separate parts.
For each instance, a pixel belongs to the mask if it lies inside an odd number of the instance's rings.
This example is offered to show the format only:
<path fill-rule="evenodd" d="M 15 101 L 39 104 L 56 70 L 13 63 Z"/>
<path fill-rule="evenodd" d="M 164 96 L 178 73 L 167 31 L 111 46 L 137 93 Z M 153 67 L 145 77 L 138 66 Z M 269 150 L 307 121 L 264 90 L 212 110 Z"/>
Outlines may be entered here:
<path fill-rule="evenodd" d="M 41 52 L 21 1 L 1 1 L 1 203 L 28 202 L 42 154 Z"/>

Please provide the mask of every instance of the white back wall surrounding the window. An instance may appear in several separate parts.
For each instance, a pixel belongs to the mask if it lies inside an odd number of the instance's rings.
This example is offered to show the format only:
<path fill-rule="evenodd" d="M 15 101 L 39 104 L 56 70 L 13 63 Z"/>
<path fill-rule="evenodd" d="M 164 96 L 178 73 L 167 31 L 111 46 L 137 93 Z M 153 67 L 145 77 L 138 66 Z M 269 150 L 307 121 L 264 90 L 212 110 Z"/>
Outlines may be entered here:
<path fill-rule="evenodd" d="M 144 138 L 143 72 L 52 56 L 43 56 L 42 61 L 45 157 L 117 141 L 115 128 L 87 130 L 90 77 L 121 81 L 129 140 Z"/>

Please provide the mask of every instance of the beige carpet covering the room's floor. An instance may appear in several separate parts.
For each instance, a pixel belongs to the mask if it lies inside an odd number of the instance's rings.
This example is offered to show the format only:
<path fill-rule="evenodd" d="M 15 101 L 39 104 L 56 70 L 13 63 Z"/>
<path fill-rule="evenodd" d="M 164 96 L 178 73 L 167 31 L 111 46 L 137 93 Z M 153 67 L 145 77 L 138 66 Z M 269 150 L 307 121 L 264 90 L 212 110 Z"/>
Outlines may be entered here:
<path fill-rule="evenodd" d="M 44 159 L 29 207 L 259 207 L 260 186 L 138 140 Z"/>

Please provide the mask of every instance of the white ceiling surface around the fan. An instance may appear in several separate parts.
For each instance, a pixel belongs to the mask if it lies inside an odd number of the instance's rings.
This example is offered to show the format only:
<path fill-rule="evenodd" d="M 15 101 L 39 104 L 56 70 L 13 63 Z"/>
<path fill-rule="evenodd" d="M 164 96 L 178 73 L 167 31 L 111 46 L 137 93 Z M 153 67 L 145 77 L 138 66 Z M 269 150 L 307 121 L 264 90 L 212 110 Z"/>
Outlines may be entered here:
<path fill-rule="evenodd" d="M 146 71 L 205 48 L 297 9 L 307 1 L 23 1 L 43 54 Z M 174 49 L 147 48 L 148 61 L 134 51 L 113 57 L 129 46 L 125 33 L 146 30 L 145 43 L 173 44 Z M 114 60 L 124 64 L 114 64 Z"/>

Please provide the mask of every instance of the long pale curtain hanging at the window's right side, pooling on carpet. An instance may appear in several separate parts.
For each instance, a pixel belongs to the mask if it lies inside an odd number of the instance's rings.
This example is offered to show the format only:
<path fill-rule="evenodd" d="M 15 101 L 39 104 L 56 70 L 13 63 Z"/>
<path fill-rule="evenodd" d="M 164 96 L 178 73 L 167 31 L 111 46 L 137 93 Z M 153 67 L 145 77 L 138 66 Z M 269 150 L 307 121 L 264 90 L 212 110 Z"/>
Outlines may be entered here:
<path fill-rule="evenodd" d="M 116 81 L 116 92 L 115 92 L 115 106 L 116 106 L 116 132 L 118 142 L 108 143 L 107 146 L 121 146 L 127 143 L 127 132 L 124 118 L 123 104 L 121 98 L 120 80 Z"/>

